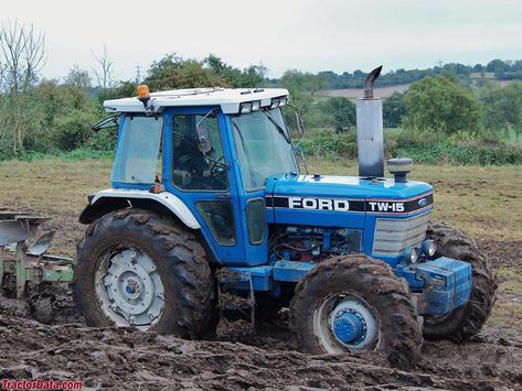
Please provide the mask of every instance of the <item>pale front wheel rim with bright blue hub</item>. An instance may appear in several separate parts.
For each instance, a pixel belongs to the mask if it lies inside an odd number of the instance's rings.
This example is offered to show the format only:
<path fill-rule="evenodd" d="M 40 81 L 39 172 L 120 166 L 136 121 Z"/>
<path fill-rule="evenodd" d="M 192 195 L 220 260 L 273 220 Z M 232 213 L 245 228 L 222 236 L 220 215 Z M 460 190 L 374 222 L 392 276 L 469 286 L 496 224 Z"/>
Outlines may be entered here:
<path fill-rule="evenodd" d="M 327 352 L 373 350 L 379 345 L 379 319 L 354 294 L 327 297 L 313 314 L 313 332 Z"/>

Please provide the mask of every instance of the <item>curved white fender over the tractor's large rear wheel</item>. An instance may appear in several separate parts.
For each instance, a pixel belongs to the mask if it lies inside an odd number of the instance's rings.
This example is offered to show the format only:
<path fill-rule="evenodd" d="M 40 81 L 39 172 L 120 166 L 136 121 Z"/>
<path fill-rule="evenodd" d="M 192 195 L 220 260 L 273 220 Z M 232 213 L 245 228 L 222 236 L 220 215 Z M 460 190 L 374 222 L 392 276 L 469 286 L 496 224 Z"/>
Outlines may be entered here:
<path fill-rule="evenodd" d="M 159 194 L 139 189 L 109 188 L 89 196 L 89 205 L 82 211 L 79 222 L 90 224 L 97 218 L 127 207 L 140 207 L 170 214 L 191 229 L 201 226 L 192 211 L 175 195 L 161 192 Z"/>

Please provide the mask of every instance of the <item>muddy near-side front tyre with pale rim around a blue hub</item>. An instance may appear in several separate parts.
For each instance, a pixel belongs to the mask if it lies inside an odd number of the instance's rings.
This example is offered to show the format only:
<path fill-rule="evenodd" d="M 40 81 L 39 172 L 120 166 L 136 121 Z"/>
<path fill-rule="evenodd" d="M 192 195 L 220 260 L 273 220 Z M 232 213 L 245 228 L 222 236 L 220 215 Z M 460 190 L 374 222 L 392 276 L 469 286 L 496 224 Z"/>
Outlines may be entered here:
<path fill-rule="evenodd" d="M 338 311 L 341 307 L 344 313 Z M 342 335 L 339 339 L 333 319 L 350 311 L 364 318 L 366 341 L 342 344 Z M 362 254 L 319 263 L 297 284 L 290 303 L 290 327 L 301 351 L 376 350 L 402 369 L 414 367 L 420 357 L 417 319 L 406 281 L 384 262 Z"/>

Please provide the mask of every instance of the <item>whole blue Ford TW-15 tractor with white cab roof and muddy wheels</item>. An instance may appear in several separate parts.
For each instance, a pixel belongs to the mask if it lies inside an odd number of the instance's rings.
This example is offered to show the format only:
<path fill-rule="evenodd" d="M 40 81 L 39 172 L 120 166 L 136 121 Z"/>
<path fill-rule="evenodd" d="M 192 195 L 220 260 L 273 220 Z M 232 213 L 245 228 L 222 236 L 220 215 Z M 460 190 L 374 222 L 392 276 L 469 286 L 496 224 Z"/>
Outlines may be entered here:
<path fill-rule="evenodd" d="M 411 160 L 384 177 L 379 72 L 356 102 L 359 176 L 302 171 L 286 89 L 142 85 L 105 101 L 94 129 L 118 126 L 111 187 L 88 197 L 73 264 L 87 324 L 198 338 L 220 315 L 289 307 L 300 350 L 375 350 L 400 368 L 423 336 L 477 334 L 496 279 L 472 239 L 430 224 Z"/>

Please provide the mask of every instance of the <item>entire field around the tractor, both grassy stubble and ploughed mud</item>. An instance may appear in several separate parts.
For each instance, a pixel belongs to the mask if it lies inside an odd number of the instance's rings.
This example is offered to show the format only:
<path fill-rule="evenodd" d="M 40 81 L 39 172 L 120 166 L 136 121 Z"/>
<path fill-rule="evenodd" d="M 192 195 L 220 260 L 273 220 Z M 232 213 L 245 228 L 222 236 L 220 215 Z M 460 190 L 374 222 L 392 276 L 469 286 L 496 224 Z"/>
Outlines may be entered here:
<path fill-rule="evenodd" d="M 425 341 L 423 359 L 412 371 L 392 369 L 373 354 L 299 354 L 285 311 L 277 321 L 257 324 L 254 333 L 241 324 L 222 324 L 220 337 L 206 341 L 87 328 L 63 284 L 32 286 L 36 307 L 0 298 L 0 379 L 71 379 L 114 389 L 522 389 L 520 173 L 445 166 L 417 173 L 435 185 L 435 219 L 477 236 L 500 284 L 480 335 L 465 345 Z M 0 206 L 52 217 L 43 227 L 56 230 L 50 252 L 74 256 L 85 228 L 76 222 L 85 195 L 107 187 L 108 175 L 109 162 L 0 164 Z M 45 325 L 35 318 L 53 321 Z"/>

